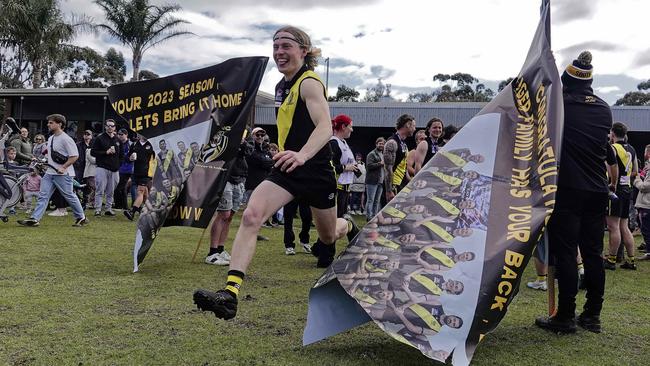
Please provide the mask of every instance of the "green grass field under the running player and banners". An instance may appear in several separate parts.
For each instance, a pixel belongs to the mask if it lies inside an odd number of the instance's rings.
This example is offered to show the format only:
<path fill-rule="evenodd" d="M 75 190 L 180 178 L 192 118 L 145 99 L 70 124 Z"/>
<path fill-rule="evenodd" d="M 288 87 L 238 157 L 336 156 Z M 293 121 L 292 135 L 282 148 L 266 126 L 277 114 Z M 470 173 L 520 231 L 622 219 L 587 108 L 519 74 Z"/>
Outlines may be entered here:
<path fill-rule="evenodd" d="M 372 323 L 302 347 L 307 295 L 322 271 L 310 255 L 285 256 L 279 228 L 263 229 L 271 241 L 258 244 L 239 313 L 220 321 L 192 304 L 194 289 L 221 287 L 227 271 L 202 264 L 205 239 L 191 263 L 201 230 L 164 228 L 134 274 L 135 225 L 124 217 L 91 221 L 84 228 L 72 228 L 70 216 L 46 217 L 38 228 L 19 227 L 15 218 L 0 224 L 0 364 L 434 364 Z M 639 267 L 607 272 L 600 335 L 537 329 L 546 293 L 522 286 L 473 364 L 645 365 L 650 264 Z M 531 264 L 524 281 L 533 277 Z"/>

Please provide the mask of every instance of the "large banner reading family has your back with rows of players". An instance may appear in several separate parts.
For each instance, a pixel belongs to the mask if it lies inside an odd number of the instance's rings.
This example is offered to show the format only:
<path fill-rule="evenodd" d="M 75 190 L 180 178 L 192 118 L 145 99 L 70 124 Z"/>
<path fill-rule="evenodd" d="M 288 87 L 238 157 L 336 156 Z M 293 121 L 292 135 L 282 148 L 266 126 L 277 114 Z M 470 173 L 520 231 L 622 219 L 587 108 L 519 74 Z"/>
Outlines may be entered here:
<path fill-rule="evenodd" d="M 563 109 L 549 3 L 518 76 L 381 210 L 310 292 L 303 343 L 374 321 L 469 364 L 553 210 Z"/>

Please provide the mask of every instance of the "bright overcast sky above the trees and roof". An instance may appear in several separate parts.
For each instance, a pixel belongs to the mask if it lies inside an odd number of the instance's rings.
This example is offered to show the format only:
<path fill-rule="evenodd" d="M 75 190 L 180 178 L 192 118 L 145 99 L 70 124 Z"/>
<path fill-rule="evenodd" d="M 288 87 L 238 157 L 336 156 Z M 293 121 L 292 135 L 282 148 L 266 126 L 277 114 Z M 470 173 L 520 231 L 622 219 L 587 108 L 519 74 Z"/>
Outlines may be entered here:
<path fill-rule="evenodd" d="M 153 1 L 154 3 L 163 3 Z M 177 16 L 195 36 L 167 41 L 145 53 L 142 68 L 160 75 L 188 71 L 238 56 L 271 57 L 274 31 L 303 28 L 330 58 L 329 92 L 339 84 L 365 91 L 382 78 L 392 95 L 431 91 L 433 75 L 470 73 L 496 90 L 516 76 L 539 19 L 539 0 L 238 0 L 179 1 Z M 647 16 L 650 1 L 551 1 L 552 48 L 560 72 L 580 51 L 593 53 L 594 89 L 610 103 L 650 78 Z M 90 0 L 62 0 L 66 13 L 103 14 Z M 104 53 L 131 51 L 106 35 L 76 44 Z M 325 78 L 325 68 L 319 67 Z M 130 75 L 130 71 L 127 72 Z M 261 89 L 281 78 L 273 60 Z"/>

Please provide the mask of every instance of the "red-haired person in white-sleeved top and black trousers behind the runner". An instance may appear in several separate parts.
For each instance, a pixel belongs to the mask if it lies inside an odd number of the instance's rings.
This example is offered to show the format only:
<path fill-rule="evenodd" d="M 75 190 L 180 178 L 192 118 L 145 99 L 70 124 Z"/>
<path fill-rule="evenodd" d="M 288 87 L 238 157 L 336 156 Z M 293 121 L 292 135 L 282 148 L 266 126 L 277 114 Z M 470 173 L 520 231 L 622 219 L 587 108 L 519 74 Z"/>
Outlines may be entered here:
<path fill-rule="evenodd" d="M 354 153 L 345 141 L 352 135 L 352 118 L 339 114 L 332 120 L 334 134 L 330 138 L 332 165 L 336 173 L 336 217 L 343 217 L 348 212 L 350 184 L 354 174 L 359 172 L 354 160 Z"/>

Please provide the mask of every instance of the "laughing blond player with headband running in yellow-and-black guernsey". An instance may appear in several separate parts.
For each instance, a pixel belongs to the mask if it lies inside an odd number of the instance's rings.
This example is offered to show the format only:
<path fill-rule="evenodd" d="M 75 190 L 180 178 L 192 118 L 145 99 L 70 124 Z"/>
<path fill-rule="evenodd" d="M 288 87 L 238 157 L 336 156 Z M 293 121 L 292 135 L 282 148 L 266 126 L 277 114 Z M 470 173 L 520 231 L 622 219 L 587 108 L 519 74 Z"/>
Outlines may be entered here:
<path fill-rule="evenodd" d="M 312 208 L 320 245 L 312 252 L 318 266 L 334 260 L 334 244 L 358 232 L 354 222 L 336 218 L 336 180 L 328 141 L 332 123 L 325 87 L 314 72 L 320 49 L 302 30 L 286 26 L 273 35 L 273 59 L 284 78 L 276 85 L 278 146 L 271 174 L 251 194 L 232 249 L 230 270 L 224 289 L 199 289 L 194 303 L 217 318 L 237 314 L 237 296 L 244 274 L 253 259 L 257 235 L 265 222 L 282 206 L 298 198 Z"/>

